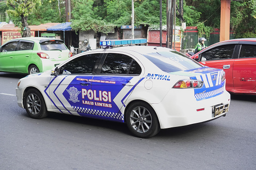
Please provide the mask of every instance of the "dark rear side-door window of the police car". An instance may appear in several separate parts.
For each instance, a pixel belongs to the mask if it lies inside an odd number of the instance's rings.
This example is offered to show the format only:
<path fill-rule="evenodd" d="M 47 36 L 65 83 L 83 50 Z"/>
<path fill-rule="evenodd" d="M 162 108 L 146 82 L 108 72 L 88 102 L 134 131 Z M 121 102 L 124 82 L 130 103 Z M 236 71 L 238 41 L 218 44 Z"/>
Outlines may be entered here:
<path fill-rule="evenodd" d="M 107 55 L 101 70 L 101 74 L 140 74 L 140 73 L 141 73 L 141 67 L 133 58 L 124 54 L 116 54 L 116 53 L 109 53 Z"/>

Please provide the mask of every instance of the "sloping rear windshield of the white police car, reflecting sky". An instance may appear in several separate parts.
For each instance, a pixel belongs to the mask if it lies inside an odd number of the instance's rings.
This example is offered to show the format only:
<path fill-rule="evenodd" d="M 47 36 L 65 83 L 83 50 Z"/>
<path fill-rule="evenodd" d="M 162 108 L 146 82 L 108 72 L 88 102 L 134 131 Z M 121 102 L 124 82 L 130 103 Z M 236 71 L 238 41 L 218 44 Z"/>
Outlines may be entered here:
<path fill-rule="evenodd" d="M 177 72 L 201 68 L 202 66 L 191 58 L 177 51 L 161 51 L 144 55 L 164 72 Z"/>

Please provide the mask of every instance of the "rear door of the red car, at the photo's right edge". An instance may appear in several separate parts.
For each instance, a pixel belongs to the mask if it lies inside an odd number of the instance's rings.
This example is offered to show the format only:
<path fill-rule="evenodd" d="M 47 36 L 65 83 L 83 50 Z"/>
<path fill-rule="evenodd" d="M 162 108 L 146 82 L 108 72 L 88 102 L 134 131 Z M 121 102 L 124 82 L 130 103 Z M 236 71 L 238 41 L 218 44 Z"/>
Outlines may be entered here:
<path fill-rule="evenodd" d="M 256 87 L 256 42 L 241 41 L 234 60 L 234 89 L 253 90 Z"/>

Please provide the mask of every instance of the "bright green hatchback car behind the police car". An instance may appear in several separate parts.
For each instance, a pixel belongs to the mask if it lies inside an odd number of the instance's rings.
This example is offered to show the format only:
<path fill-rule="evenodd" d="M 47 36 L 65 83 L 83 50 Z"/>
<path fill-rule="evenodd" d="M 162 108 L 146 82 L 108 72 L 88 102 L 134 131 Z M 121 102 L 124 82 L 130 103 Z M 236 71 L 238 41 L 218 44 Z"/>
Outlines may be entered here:
<path fill-rule="evenodd" d="M 51 70 L 72 57 L 62 40 L 27 37 L 0 47 L 0 72 L 33 74 Z"/>

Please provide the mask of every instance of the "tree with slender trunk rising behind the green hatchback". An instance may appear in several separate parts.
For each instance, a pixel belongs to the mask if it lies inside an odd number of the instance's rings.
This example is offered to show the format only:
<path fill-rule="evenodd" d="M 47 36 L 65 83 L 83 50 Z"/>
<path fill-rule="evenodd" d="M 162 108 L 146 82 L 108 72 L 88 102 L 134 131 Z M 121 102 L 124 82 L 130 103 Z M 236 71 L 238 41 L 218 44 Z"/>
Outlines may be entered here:
<path fill-rule="evenodd" d="M 28 25 L 28 16 L 41 6 L 41 0 L 8 0 L 7 5 L 14 10 L 7 10 L 7 14 L 14 17 L 21 17 L 21 33 L 22 37 L 31 37 Z"/>

